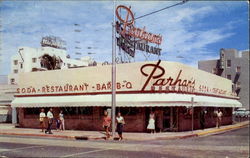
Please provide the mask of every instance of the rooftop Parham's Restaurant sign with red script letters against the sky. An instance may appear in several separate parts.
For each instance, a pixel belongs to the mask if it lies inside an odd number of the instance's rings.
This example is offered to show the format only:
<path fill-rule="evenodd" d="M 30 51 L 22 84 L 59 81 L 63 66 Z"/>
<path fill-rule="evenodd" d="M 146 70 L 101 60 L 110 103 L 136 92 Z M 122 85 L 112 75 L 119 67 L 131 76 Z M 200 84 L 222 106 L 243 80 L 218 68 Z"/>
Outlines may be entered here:
<path fill-rule="evenodd" d="M 127 12 L 125 19 L 119 14 L 119 10 L 121 9 Z M 116 31 L 120 35 L 117 37 L 117 45 L 122 50 L 131 57 L 135 56 L 135 49 L 155 55 L 161 55 L 159 45 L 162 42 L 162 36 L 147 32 L 146 27 L 143 29 L 136 28 L 134 26 L 134 14 L 130 8 L 119 5 L 116 8 L 116 16 L 120 20 L 120 22 L 116 22 Z M 148 43 L 154 43 L 157 46 L 150 46 Z"/>

